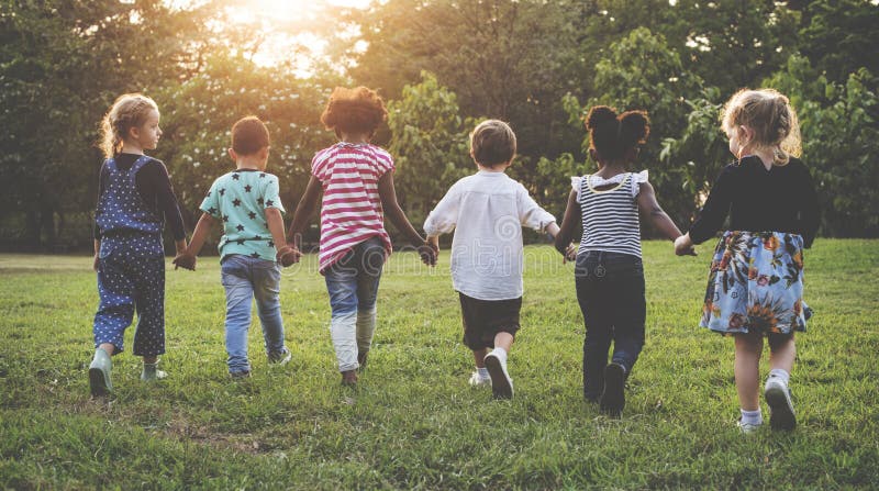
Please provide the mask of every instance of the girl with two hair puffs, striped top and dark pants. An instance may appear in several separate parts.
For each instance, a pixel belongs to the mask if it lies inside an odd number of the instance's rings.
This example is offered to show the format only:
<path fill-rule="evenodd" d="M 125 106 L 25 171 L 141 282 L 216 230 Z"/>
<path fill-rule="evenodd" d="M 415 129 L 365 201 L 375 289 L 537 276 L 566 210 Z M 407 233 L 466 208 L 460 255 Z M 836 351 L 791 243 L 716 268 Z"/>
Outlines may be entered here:
<path fill-rule="evenodd" d="M 586 323 L 583 397 L 613 416 L 622 414 L 625 379 L 644 346 L 638 211 L 669 239 L 681 235 L 656 201 L 647 171 L 625 170 L 646 141 L 649 124 L 644 111 L 619 116 L 607 105 L 589 111 L 589 156 L 598 163 L 598 172 L 571 179 L 574 189 L 556 236 L 556 248 L 565 254 L 576 224 L 582 223 L 575 281 Z M 608 365 L 611 342 L 613 357 Z"/>

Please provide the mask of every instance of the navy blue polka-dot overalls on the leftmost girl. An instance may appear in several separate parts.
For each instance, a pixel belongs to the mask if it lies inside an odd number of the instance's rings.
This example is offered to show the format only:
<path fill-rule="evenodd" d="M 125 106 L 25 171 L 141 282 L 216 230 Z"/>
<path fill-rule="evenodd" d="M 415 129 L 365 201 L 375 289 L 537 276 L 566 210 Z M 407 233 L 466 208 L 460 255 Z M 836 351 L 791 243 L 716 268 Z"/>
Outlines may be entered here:
<path fill-rule="evenodd" d="M 109 179 L 98 200 L 96 222 L 101 231 L 94 346 L 123 349 L 123 334 L 137 311 L 135 356 L 165 353 L 165 250 L 162 216 L 137 192 L 135 176 L 149 161 L 143 156 L 127 171 L 115 160 L 104 164 Z"/>

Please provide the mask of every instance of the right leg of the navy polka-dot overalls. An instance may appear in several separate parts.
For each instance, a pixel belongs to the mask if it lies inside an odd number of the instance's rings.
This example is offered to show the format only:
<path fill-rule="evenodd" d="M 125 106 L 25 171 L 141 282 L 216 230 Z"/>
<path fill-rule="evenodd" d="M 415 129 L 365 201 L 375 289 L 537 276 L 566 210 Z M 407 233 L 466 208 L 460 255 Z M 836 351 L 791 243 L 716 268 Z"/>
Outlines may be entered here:
<path fill-rule="evenodd" d="M 165 353 L 165 256 L 138 258 L 130 267 L 137 309 L 132 354 L 142 356 L 144 364 L 155 364 Z"/>

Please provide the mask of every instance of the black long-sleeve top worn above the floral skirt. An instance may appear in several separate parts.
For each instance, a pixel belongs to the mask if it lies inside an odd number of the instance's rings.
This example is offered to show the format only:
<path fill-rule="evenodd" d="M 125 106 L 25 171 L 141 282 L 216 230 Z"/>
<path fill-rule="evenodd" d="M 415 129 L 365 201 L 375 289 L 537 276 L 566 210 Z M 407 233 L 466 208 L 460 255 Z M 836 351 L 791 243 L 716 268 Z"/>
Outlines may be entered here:
<path fill-rule="evenodd" d="M 690 238 L 701 244 L 714 236 L 730 214 L 730 230 L 800 234 L 811 247 L 819 226 L 815 187 L 809 168 L 798 158 L 769 170 L 757 156 L 723 168 Z"/>

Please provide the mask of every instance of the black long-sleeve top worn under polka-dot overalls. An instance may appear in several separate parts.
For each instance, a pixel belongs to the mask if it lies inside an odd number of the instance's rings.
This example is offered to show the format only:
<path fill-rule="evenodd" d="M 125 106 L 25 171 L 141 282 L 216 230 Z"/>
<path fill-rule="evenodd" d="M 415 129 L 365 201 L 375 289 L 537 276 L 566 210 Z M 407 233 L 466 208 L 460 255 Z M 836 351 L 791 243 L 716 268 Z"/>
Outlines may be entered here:
<path fill-rule="evenodd" d="M 127 171 L 140 157 L 141 155 L 137 154 L 119 154 L 114 158 L 116 167 L 122 171 Z M 101 174 L 98 180 L 98 199 L 107 189 L 108 179 L 107 166 L 101 166 Z M 183 217 L 180 215 L 177 197 L 174 194 L 174 188 L 165 164 L 162 160 L 149 158 L 149 161 L 141 167 L 141 170 L 134 176 L 134 181 L 137 187 L 137 193 L 141 194 L 146 205 L 159 213 L 159 215 L 165 216 L 165 221 L 168 222 L 171 228 L 174 239 L 181 241 L 186 238 Z M 101 239 L 101 230 L 97 223 L 94 224 L 94 238 Z"/>

